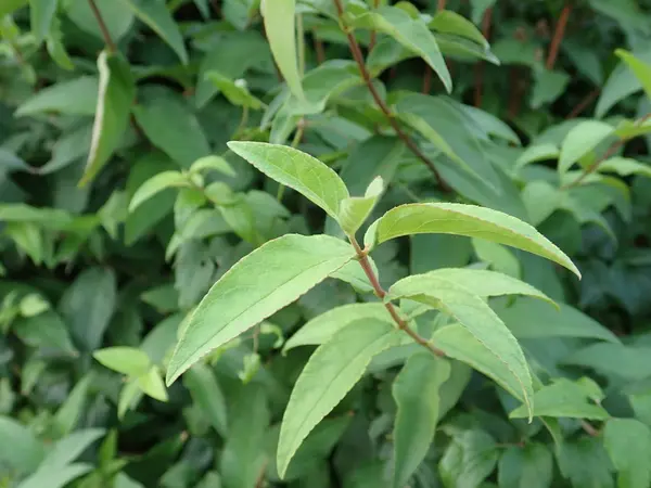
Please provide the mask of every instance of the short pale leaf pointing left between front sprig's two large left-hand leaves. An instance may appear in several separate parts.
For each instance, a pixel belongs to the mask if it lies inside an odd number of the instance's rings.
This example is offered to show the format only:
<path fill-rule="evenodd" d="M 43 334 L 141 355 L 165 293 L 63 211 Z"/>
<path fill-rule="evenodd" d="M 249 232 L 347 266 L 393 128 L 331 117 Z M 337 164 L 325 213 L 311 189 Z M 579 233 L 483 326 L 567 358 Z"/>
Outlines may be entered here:
<path fill-rule="evenodd" d="M 320 346 L 330 341 L 342 329 L 361 319 L 393 324 L 393 319 L 382 304 L 342 305 L 308 321 L 288 339 L 282 351 L 285 354 L 298 346 Z"/>

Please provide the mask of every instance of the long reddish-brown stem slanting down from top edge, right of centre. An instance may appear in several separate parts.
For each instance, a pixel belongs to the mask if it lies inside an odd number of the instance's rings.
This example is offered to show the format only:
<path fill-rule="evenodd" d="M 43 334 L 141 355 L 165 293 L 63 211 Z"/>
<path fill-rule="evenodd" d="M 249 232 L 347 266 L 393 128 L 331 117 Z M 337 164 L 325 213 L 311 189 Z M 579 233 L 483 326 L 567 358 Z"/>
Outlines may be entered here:
<path fill-rule="evenodd" d="M 333 0 L 333 1 L 334 1 L 334 5 L 336 7 L 340 22 L 343 24 L 344 7 L 342 4 L 342 0 Z M 366 67 L 366 63 L 363 61 L 363 55 L 361 54 L 361 49 L 359 48 L 359 44 L 357 43 L 355 36 L 348 29 L 345 29 L 345 33 L 346 33 L 346 37 L 348 38 L 348 46 L 350 48 L 350 52 L 353 53 L 353 57 L 355 59 L 355 62 L 357 63 L 359 73 L 360 73 L 361 77 L 363 78 L 363 81 L 366 82 L 366 86 L 368 87 L 371 95 L 373 97 L 375 104 L 378 105 L 380 111 L 382 111 L 382 113 L 388 120 L 388 124 L 391 125 L 391 127 L 393 127 L 393 129 L 396 131 L 396 134 L 398 136 L 398 138 L 400 138 L 400 140 L 407 145 L 407 147 L 409 147 L 409 150 L 420 160 L 422 160 L 425 164 L 425 166 L 427 166 L 427 168 L 430 168 L 430 171 L 432 171 L 432 174 L 436 178 L 436 181 L 437 181 L 438 185 L 441 187 L 441 189 L 445 192 L 449 192 L 450 188 L 447 185 L 447 183 L 443 180 L 443 178 L 438 174 L 438 170 L 434 166 L 434 163 L 432 163 L 427 158 L 427 156 L 425 156 L 422 153 L 422 151 L 419 149 L 419 146 L 416 144 L 416 142 L 413 142 L 413 140 L 409 136 L 407 136 L 407 133 L 405 133 L 405 131 L 403 131 L 403 129 L 396 121 L 394 115 L 391 113 L 391 110 L 388 108 L 388 106 L 386 105 L 384 100 L 382 100 L 382 97 L 380 97 L 380 93 L 375 89 L 375 87 L 373 85 L 373 80 L 371 79 L 371 74 L 369 73 L 369 70 Z"/>

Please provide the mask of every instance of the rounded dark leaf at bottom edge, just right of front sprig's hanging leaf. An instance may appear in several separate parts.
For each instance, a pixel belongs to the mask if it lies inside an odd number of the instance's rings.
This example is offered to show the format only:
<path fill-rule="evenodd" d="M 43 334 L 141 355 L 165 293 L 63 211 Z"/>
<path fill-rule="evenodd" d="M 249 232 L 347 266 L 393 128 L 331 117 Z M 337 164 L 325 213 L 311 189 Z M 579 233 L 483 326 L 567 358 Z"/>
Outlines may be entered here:
<path fill-rule="evenodd" d="M 438 463 L 446 488 L 478 487 L 495 470 L 499 451 L 484 431 L 463 431 L 452 437 Z"/>

